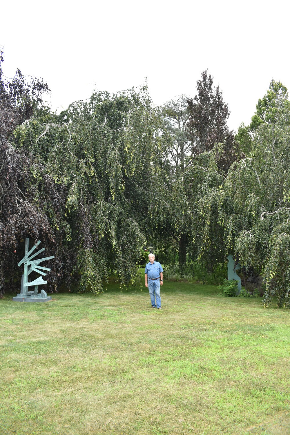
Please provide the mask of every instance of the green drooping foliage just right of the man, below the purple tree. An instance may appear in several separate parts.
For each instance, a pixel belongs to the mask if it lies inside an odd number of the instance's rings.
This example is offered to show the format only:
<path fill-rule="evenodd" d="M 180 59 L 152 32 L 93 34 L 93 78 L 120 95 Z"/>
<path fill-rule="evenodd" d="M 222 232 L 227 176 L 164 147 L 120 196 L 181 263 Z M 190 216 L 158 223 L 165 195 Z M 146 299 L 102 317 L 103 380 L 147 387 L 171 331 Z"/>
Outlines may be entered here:
<path fill-rule="evenodd" d="M 158 252 L 166 252 L 169 246 L 172 259 L 178 252 L 180 271 L 187 261 L 203 258 L 211 272 L 217 262 L 224 261 L 223 230 L 217 226 L 219 209 L 215 198 L 208 196 L 210 191 L 219 195 L 223 180 L 212 150 L 192 157 L 182 175 L 163 184 L 153 214 L 156 230 L 152 228 L 151 234 L 157 239 Z"/>

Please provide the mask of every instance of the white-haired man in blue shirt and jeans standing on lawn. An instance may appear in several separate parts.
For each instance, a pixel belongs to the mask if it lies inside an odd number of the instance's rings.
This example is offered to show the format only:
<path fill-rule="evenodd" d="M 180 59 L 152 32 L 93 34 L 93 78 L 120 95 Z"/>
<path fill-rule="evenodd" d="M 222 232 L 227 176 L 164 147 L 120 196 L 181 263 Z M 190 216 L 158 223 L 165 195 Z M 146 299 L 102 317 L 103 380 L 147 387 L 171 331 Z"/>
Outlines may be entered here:
<path fill-rule="evenodd" d="M 145 266 L 145 287 L 148 287 L 152 308 L 161 310 L 160 284 L 163 285 L 163 269 L 155 255 L 149 254 L 149 263 Z M 155 303 L 156 296 L 156 303 Z"/>

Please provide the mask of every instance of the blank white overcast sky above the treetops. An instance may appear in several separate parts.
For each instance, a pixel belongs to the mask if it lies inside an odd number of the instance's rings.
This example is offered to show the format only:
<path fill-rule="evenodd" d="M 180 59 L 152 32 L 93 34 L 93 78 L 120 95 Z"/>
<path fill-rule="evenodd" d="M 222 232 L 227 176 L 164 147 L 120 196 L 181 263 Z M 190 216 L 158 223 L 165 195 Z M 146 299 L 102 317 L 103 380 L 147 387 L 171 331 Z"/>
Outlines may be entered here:
<path fill-rule="evenodd" d="M 3 71 L 43 77 L 60 110 L 93 89 L 116 92 L 145 77 L 154 104 L 193 97 L 207 68 L 237 130 L 272 78 L 290 89 L 289 12 L 281 0 L 5 2 Z"/>

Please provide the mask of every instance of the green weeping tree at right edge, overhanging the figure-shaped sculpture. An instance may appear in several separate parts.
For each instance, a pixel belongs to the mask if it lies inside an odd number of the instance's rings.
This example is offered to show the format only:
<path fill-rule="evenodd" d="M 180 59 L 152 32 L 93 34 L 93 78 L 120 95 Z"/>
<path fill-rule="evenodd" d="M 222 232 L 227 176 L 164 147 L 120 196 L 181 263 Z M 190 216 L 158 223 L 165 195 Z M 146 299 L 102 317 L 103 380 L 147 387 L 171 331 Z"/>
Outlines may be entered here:
<path fill-rule="evenodd" d="M 214 236 L 208 228 L 215 225 L 224 254 L 233 254 L 265 279 L 264 305 L 277 296 L 278 306 L 289 307 L 290 104 L 284 87 L 274 107 L 274 116 L 253 132 L 250 155 L 233 163 L 227 177 L 201 198 L 198 234 L 202 249 L 211 250 Z"/>

